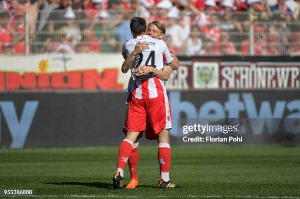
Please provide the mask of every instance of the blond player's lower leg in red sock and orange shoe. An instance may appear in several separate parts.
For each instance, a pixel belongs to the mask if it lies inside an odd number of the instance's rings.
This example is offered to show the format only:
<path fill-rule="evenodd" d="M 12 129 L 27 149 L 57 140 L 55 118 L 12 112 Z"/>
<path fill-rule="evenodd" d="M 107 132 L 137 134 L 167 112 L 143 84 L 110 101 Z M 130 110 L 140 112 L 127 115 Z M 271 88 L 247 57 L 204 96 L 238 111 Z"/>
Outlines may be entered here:
<path fill-rule="evenodd" d="M 133 147 L 131 150 L 131 155 L 128 159 L 128 166 L 130 171 L 131 180 L 126 186 L 126 189 L 135 189 L 138 186 L 138 176 L 137 176 L 137 165 L 139 162 L 139 153 L 138 153 L 138 146 L 139 146 L 139 138 L 133 143 Z"/>

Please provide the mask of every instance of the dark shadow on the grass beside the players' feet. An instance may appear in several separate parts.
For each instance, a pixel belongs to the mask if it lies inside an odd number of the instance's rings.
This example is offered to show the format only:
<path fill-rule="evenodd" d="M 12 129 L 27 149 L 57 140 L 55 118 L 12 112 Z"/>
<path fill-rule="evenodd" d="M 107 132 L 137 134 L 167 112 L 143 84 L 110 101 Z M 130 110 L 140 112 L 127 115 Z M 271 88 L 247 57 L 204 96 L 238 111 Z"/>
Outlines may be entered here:
<path fill-rule="evenodd" d="M 87 187 L 97 187 L 101 189 L 113 189 L 111 183 L 106 182 L 43 182 L 43 184 L 53 184 L 53 185 L 79 185 L 79 186 L 87 186 Z M 125 185 L 126 187 L 126 185 Z M 148 186 L 148 185 L 139 185 L 139 187 L 145 187 L 145 188 L 157 188 L 154 186 Z"/>

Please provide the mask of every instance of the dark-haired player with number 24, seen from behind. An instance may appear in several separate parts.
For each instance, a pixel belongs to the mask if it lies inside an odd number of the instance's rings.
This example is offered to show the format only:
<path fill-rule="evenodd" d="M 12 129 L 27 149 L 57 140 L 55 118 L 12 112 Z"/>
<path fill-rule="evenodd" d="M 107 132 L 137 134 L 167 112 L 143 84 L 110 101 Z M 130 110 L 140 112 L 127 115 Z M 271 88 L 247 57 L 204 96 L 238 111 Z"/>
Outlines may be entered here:
<path fill-rule="evenodd" d="M 140 132 L 146 130 L 146 121 L 157 134 L 159 143 L 158 159 L 160 162 L 159 188 L 177 188 L 170 181 L 171 149 L 168 129 L 172 128 L 171 112 L 168 96 L 161 79 L 168 79 L 171 70 L 164 71 L 163 57 L 171 67 L 178 67 L 164 41 L 146 35 L 146 21 L 141 17 L 134 17 L 130 21 L 133 39 L 125 42 L 123 52 L 126 59 L 122 65 L 122 72 L 131 69 L 133 84 L 130 85 L 131 97 L 128 99 L 128 111 L 125 120 L 126 138 L 121 143 L 118 154 L 117 172 L 113 177 L 114 188 L 123 188 L 124 167 L 130 157 L 134 142 Z M 146 41 L 144 51 L 137 54 L 135 45 Z M 129 64 L 128 64 L 129 63 Z M 145 65 L 138 68 L 140 65 Z"/>

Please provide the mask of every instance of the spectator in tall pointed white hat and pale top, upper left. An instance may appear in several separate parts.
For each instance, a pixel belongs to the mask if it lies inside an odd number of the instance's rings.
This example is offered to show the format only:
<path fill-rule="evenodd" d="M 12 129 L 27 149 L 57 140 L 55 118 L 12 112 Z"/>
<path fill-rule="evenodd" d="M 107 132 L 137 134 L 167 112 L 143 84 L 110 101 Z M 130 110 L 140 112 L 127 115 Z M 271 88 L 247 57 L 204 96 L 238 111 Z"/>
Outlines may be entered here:
<path fill-rule="evenodd" d="M 66 38 L 69 42 L 76 47 L 81 40 L 81 33 L 78 26 L 75 24 L 75 13 L 71 7 L 68 7 L 68 10 L 65 14 L 66 25 L 62 27 L 65 30 Z"/>

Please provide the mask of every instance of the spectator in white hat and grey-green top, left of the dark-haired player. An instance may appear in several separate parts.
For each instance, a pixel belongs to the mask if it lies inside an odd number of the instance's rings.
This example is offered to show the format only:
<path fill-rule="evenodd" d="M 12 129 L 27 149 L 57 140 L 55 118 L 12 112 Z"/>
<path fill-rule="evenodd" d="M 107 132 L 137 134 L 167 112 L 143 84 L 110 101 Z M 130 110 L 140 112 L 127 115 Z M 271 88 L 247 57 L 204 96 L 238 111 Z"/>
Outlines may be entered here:
<path fill-rule="evenodd" d="M 94 19 L 89 29 L 93 29 L 101 44 L 101 52 L 116 52 L 118 45 L 114 31 L 108 26 L 108 12 L 103 11 L 99 18 Z"/>

